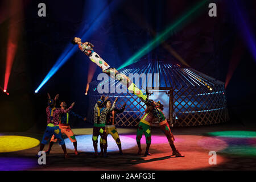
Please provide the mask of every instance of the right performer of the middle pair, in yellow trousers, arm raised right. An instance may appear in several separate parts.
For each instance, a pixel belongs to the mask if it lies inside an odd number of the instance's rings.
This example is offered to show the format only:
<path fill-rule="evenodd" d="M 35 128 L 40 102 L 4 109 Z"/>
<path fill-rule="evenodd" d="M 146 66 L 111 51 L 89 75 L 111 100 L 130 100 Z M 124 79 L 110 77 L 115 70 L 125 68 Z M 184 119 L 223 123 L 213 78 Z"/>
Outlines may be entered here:
<path fill-rule="evenodd" d="M 111 101 L 106 100 L 105 106 L 110 107 Z M 108 134 L 112 135 L 113 139 L 115 140 L 115 143 L 117 143 L 117 146 L 119 148 L 119 154 L 122 155 L 122 146 L 121 146 L 121 140 L 119 138 L 119 134 L 117 131 L 117 128 L 115 127 L 115 114 L 122 113 L 123 110 L 125 110 L 126 104 L 124 104 L 121 109 L 114 109 L 112 112 L 109 112 L 106 116 L 106 123 L 105 123 L 105 129 L 106 129 L 106 137 L 108 137 Z M 102 146 L 102 139 L 100 140 L 100 147 L 101 147 L 101 155 L 103 155 L 103 146 Z"/>

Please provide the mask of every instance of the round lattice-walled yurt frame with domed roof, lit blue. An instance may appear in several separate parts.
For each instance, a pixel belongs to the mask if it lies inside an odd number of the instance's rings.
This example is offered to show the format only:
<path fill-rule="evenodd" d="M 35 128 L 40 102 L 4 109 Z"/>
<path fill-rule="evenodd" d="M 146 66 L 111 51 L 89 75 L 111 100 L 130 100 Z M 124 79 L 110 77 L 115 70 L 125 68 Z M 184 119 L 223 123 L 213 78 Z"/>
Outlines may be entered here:
<path fill-rule="evenodd" d="M 229 119 L 226 109 L 224 82 L 196 71 L 191 67 L 165 60 L 139 61 L 119 70 L 127 76 L 138 74 L 134 83 L 154 101 L 164 105 L 168 122 L 177 127 L 212 125 Z M 144 74 L 143 74 L 144 73 Z M 143 76 L 144 75 L 144 76 Z M 109 88 L 119 86 L 119 81 L 109 78 Z M 98 93 L 101 81 L 90 83 L 90 110 L 93 122 L 93 107 L 102 93 Z M 124 87 L 123 87 L 124 88 Z M 125 89 L 126 90 L 126 89 Z M 117 107 L 127 104 L 125 111 L 117 115 L 117 126 L 137 126 L 146 105 L 133 93 L 104 93 Z M 155 125 L 157 126 L 155 121 Z"/>

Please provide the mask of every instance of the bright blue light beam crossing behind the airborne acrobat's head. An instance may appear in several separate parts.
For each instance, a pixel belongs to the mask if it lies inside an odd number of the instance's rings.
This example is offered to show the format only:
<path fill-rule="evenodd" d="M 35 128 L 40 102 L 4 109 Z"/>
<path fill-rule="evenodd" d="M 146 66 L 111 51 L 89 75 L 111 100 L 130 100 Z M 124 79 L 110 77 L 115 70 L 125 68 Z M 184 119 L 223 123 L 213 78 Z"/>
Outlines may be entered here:
<path fill-rule="evenodd" d="M 102 1 L 101 2 L 106 2 L 106 1 Z M 88 30 L 85 31 L 85 26 L 80 30 L 79 34 L 76 34 L 76 36 L 80 36 L 81 39 L 88 39 L 90 35 L 93 34 L 93 32 L 95 32 L 95 30 L 98 28 L 98 26 L 100 26 L 100 24 L 102 24 L 104 22 L 104 20 L 106 20 L 109 17 L 109 12 L 110 10 L 114 10 L 115 7 L 117 7 L 119 5 L 120 1 L 115 0 L 112 1 L 108 6 L 105 7 L 105 9 L 102 11 L 100 10 L 100 12 L 97 14 L 97 16 L 95 18 L 89 18 L 89 19 L 93 19 L 91 26 L 88 28 Z M 98 7 L 99 5 L 101 5 L 101 3 L 97 3 L 97 6 L 93 6 L 93 7 Z M 90 6 L 91 7 L 91 6 Z M 95 11 L 95 9 L 93 9 L 93 11 Z M 90 15 L 90 13 L 86 12 L 86 14 L 84 16 L 88 16 Z M 86 17 L 88 18 L 88 17 Z M 68 46 L 65 48 L 65 51 L 61 54 L 61 56 L 59 57 L 59 59 L 57 59 L 56 63 L 53 65 L 53 67 L 51 68 L 51 70 L 48 72 L 48 74 L 46 75 L 46 77 L 44 78 L 44 80 L 41 82 L 41 84 L 38 86 L 38 88 L 35 90 L 35 93 L 38 93 L 38 91 L 42 88 L 42 86 L 44 84 L 46 84 L 46 82 L 49 80 L 49 78 L 51 78 L 67 61 L 68 59 L 77 51 L 77 46 L 74 46 L 73 44 L 68 44 Z"/>

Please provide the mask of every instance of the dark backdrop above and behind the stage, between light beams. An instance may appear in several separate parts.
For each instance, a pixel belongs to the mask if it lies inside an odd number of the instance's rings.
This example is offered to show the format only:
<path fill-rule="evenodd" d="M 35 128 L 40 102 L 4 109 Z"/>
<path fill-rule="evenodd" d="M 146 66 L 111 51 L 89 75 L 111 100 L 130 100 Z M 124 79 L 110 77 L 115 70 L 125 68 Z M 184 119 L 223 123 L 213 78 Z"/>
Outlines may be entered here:
<path fill-rule="evenodd" d="M 22 0 L 20 0 L 22 1 Z M 13 1 L 0 2 L 0 86 L 3 88 Z M 46 17 L 38 16 L 38 4 L 46 3 Z M 185 12 L 201 1 L 22 1 L 23 16 L 19 24 L 18 46 L 11 69 L 7 96 L 0 90 L 0 131 L 26 131 L 31 127 L 44 130 L 47 92 L 68 106 L 76 101 L 74 111 L 86 116 L 89 96 L 85 96 L 90 60 L 77 51 L 34 93 L 67 45 L 81 27 L 89 30 L 98 21 L 102 7 L 109 8 L 108 16 L 93 27 L 93 33 L 83 42 L 92 42 L 97 53 L 111 67 L 118 68 L 146 43 L 154 39 L 150 30 L 159 34 Z M 217 17 L 208 16 L 208 4 L 217 4 Z M 231 77 L 226 87 L 230 123 L 254 123 L 255 57 L 242 34 L 238 7 L 255 36 L 255 1 L 209 1 L 193 14 L 182 27 L 171 32 L 170 44 L 192 68 L 223 82 Z M 237 6 L 236 6 L 237 5 Z M 19 12 L 20 13 L 20 12 Z M 255 38 L 254 38 L 255 42 Z M 255 46 L 255 45 L 254 45 Z M 255 51 L 255 50 L 254 50 Z M 174 57 L 161 45 L 142 59 Z M 232 72 L 233 70 L 233 72 Z M 100 73 L 96 69 L 93 80 Z M 74 118 L 72 127 L 86 124 Z"/>

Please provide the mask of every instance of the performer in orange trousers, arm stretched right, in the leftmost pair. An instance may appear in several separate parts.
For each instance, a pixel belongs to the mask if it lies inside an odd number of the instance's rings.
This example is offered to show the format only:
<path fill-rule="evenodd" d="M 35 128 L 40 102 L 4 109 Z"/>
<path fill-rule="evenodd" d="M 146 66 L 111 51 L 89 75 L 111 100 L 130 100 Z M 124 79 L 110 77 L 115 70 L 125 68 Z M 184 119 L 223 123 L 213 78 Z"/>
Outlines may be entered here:
<path fill-rule="evenodd" d="M 67 104 L 65 102 L 61 102 L 60 107 L 61 107 L 61 109 L 65 110 L 67 108 Z M 67 135 L 67 137 L 73 143 L 73 146 L 75 148 L 75 154 L 78 155 L 79 153 L 77 152 L 76 137 L 75 137 L 75 134 L 73 133 L 73 131 L 71 130 L 70 125 L 69 125 L 69 116 L 70 115 L 73 115 L 73 116 L 75 116 L 79 119 L 83 119 L 84 121 L 86 121 L 86 118 L 82 118 L 79 114 L 76 114 L 73 111 L 68 111 L 67 113 L 60 114 L 59 127 L 60 127 L 61 134 Z M 57 142 L 57 138 L 55 137 L 55 135 L 52 135 L 51 141 L 49 143 L 49 148 L 46 151 L 46 154 L 49 154 L 49 152 L 51 151 L 52 145 L 55 142 Z"/>

